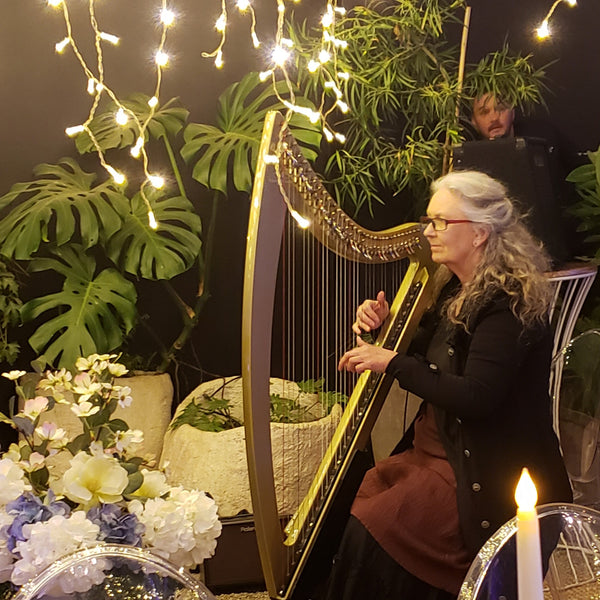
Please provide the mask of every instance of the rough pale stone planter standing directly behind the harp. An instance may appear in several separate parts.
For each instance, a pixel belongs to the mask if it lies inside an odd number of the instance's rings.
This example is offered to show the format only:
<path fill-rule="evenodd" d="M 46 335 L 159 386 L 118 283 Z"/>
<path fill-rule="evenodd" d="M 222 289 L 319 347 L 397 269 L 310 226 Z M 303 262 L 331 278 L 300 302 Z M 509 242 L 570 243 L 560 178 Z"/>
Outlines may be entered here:
<path fill-rule="evenodd" d="M 241 419 L 242 391 L 239 378 L 213 380 L 200 385 L 178 407 L 175 417 L 194 397 L 204 393 L 213 394 L 224 382 L 227 385 L 223 397 L 231 401 L 232 414 Z M 274 379 L 271 393 L 281 394 L 284 385 L 295 386 L 291 382 Z M 312 400 L 306 398 L 306 401 L 314 401 L 314 397 Z M 308 423 L 271 424 L 273 469 L 280 514 L 292 514 L 306 495 L 341 412 L 341 408 L 336 406 L 330 415 Z M 208 492 L 219 507 L 220 517 L 235 516 L 242 511 L 252 513 L 243 427 L 218 433 L 201 431 L 190 425 L 169 429 L 165 436 L 161 466 L 165 468 L 171 485 Z"/>

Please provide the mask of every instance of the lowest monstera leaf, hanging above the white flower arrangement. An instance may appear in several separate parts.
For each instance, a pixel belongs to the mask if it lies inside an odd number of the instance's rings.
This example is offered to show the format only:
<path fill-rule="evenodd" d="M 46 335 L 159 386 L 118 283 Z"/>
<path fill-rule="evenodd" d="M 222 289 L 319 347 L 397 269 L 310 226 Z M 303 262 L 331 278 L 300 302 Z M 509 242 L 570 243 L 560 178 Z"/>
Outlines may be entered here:
<path fill-rule="evenodd" d="M 130 281 L 115 269 L 96 275 L 95 260 L 75 244 L 58 248 L 55 257 L 35 259 L 31 268 L 52 269 L 65 277 L 62 291 L 30 300 L 21 311 L 24 321 L 57 313 L 29 338 L 42 360 L 72 367 L 80 356 L 110 352 L 122 344 L 137 314 L 137 294 Z"/>

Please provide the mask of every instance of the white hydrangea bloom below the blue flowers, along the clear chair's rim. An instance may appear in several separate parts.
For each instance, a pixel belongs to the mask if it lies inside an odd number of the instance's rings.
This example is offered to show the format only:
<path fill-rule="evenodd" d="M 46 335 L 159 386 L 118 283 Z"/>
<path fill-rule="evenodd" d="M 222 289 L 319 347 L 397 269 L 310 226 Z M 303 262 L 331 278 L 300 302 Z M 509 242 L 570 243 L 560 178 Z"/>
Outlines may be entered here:
<path fill-rule="evenodd" d="M 14 564 L 11 581 L 23 585 L 66 554 L 97 544 L 99 532 L 100 527 L 89 521 L 83 511 L 24 525 L 26 539 L 17 542 L 16 551 L 21 558 Z"/>

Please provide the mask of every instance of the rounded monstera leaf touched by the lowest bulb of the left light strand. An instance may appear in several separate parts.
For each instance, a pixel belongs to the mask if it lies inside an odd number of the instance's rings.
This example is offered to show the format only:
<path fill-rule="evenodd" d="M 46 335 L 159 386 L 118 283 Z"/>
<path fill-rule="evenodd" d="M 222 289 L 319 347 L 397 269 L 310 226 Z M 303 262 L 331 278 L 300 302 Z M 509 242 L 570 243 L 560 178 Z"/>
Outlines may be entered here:
<path fill-rule="evenodd" d="M 121 229 L 108 241 L 107 253 L 128 273 L 171 279 L 189 269 L 200 253 L 200 217 L 182 196 L 150 199 L 158 229 L 148 225 L 148 209 L 136 194 Z"/>

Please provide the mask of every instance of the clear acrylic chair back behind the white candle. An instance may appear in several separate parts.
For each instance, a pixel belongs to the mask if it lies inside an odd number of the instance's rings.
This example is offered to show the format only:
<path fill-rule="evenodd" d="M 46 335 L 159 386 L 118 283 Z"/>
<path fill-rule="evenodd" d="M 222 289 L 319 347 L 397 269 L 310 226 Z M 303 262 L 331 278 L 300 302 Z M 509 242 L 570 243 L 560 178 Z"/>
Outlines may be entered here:
<path fill-rule="evenodd" d="M 558 503 L 541 505 L 537 511 L 544 600 L 600 598 L 600 512 Z M 516 531 L 515 517 L 485 543 L 471 564 L 458 600 L 518 600 Z"/>

